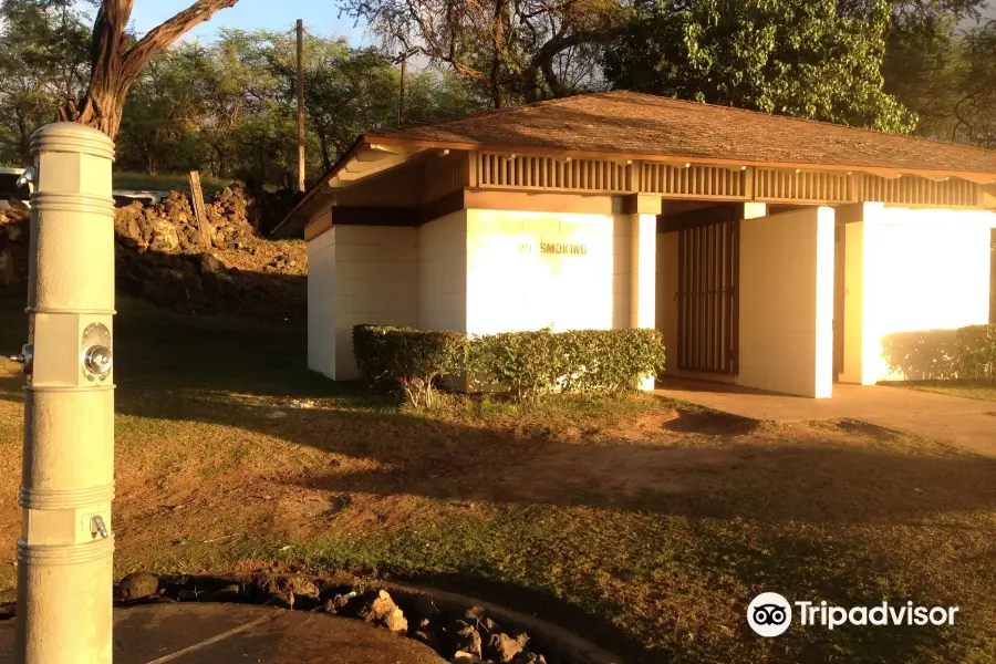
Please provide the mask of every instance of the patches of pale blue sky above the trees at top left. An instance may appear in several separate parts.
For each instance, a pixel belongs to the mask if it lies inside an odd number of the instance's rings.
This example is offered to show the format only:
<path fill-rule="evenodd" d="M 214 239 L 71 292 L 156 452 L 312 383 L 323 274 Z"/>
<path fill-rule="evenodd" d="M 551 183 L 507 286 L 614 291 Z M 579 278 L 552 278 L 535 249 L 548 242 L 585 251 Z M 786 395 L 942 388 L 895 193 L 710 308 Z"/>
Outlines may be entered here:
<path fill-rule="evenodd" d="M 183 11 L 194 0 L 135 0 L 132 21 L 138 33 L 145 33 L 169 17 Z M 222 9 L 207 23 L 191 31 L 200 41 L 210 41 L 218 28 L 242 30 L 291 30 L 298 19 L 304 19 L 309 32 L 325 37 L 342 35 L 354 45 L 371 43 L 363 27 L 355 28 L 353 20 L 339 18 L 334 0 L 239 0 L 230 9 Z M 187 38 L 189 39 L 189 38 Z"/>

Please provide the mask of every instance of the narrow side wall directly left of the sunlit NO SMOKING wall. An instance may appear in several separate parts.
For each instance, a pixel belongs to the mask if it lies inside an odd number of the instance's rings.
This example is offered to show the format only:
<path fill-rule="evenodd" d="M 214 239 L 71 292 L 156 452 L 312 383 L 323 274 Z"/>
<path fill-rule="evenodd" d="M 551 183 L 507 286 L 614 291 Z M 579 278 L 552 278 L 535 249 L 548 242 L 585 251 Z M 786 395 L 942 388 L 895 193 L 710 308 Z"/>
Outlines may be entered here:
<path fill-rule="evenodd" d="M 418 326 L 467 331 L 467 211 L 418 228 Z"/>

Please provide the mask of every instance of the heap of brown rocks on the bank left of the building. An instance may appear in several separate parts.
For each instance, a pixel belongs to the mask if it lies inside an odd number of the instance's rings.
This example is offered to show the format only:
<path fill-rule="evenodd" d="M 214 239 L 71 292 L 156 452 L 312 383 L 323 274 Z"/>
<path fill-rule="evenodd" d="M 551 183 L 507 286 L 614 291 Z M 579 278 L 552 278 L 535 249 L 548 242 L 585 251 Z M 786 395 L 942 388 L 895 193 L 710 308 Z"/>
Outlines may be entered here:
<path fill-rule="evenodd" d="M 257 206 L 243 188 L 226 188 L 205 207 L 203 225 L 176 191 L 157 205 L 117 208 L 118 291 L 184 313 L 303 320 L 303 245 L 260 238 Z M 0 288 L 28 281 L 29 232 L 27 210 L 0 211 Z"/>

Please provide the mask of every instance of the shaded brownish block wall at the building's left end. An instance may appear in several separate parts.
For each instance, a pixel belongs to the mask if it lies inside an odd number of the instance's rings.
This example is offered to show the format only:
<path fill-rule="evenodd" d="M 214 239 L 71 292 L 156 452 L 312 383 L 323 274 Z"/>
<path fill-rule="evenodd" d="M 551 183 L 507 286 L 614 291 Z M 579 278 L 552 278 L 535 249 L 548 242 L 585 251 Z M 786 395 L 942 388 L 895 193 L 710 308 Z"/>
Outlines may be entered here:
<path fill-rule="evenodd" d="M 308 258 L 308 365 L 355 380 L 353 325 L 418 325 L 418 229 L 336 226 Z"/>

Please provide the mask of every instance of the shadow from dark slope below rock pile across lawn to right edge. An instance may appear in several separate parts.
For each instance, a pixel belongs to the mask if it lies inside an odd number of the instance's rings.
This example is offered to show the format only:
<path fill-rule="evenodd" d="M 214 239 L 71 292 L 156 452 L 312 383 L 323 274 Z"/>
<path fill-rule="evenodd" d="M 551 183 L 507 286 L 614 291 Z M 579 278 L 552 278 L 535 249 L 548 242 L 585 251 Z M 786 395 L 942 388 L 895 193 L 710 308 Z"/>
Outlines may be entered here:
<path fill-rule="evenodd" d="M 297 480 L 308 488 L 817 523 L 899 523 L 996 507 L 993 459 L 896 454 L 888 444 L 744 445 L 737 436 L 749 434 L 753 421 L 694 408 L 675 413 L 664 400 L 661 413 L 672 416 L 653 426 L 722 439 L 577 445 L 542 426 L 444 421 L 385 405 L 356 385 L 308 371 L 300 326 L 184 317 L 134 300 L 120 310 L 118 413 L 231 425 L 374 459 L 381 468 Z M 11 325 L 2 328 L 9 336 Z M 0 398 L 23 398 L 18 382 L 0 378 Z M 323 407 L 288 403 L 308 398 Z M 272 418 L 274 409 L 287 416 Z"/>

